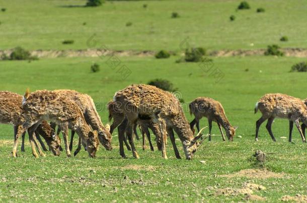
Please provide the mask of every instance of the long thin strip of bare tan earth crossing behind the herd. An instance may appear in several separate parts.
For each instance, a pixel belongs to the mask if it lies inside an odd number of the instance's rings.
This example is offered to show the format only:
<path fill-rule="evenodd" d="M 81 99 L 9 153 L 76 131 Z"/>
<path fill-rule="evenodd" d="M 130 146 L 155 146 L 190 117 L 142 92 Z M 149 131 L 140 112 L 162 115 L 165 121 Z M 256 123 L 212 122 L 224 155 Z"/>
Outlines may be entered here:
<path fill-rule="evenodd" d="M 307 57 L 307 49 L 301 48 L 285 48 L 280 49 L 285 56 L 288 57 Z M 0 50 L 0 56 L 3 54 L 10 55 L 12 53 L 10 50 Z M 256 49 L 256 50 L 216 50 L 209 52 L 210 56 L 214 57 L 231 57 L 231 56 L 255 56 L 264 55 L 266 49 Z M 84 49 L 84 50 L 33 50 L 30 51 L 31 56 L 36 56 L 38 58 L 58 58 L 58 57 L 105 57 L 105 56 L 119 56 L 119 57 L 154 57 L 155 51 L 135 51 L 135 50 L 106 50 L 106 49 Z M 173 52 L 170 52 L 173 54 Z"/>

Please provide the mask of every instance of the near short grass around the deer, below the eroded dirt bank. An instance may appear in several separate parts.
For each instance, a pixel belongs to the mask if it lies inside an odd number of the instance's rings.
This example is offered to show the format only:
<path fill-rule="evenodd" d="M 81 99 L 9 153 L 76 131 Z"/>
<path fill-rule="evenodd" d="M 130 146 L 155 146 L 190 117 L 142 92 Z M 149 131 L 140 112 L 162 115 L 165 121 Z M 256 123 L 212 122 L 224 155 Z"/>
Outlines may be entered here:
<path fill-rule="evenodd" d="M 51 3 L 53 1 L 50 1 Z M 115 3 L 114 3 L 115 4 Z M 273 132 L 277 142 L 272 142 L 261 126 L 260 141 L 255 142 L 255 122 L 260 113 L 254 114 L 255 102 L 265 93 L 281 92 L 305 98 L 305 73 L 289 73 L 297 58 L 232 57 L 213 58 L 213 69 L 218 68 L 224 77 L 216 82 L 204 72 L 199 64 L 176 64 L 177 57 L 157 60 L 154 58 L 119 58 L 131 74 L 122 78 L 118 68 L 108 66 L 108 57 L 57 58 L 26 61 L 2 61 L 0 85 L 2 90 L 23 94 L 27 87 L 36 89 L 75 89 L 90 94 L 104 123 L 107 122 L 106 102 L 114 93 L 129 84 L 146 83 L 162 78 L 178 87 L 177 95 L 186 103 L 198 96 L 209 96 L 219 100 L 228 119 L 238 125 L 234 142 L 222 142 L 216 124 L 213 125 L 213 140 L 205 141 L 195 153 L 193 160 L 184 159 L 181 143 L 177 140 L 182 160 L 177 160 L 170 141 L 168 160 L 161 158 L 159 151 L 141 150 L 136 141 L 140 159 L 122 159 L 118 152 L 117 132 L 114 132 L 113 151 L 103 147 L 97 158 L 88 158 L 85 151 L 77 157 L 66 158 L 62 153 L 54 157 L 33 158 L 31 148 L 19 152 L 12 158 L 13 128 L 1 125 L 0 134 L 0 198 L 2 201 L 241 201 L 238 196 L 216 196 L 219 188 L 240 188 L 244 182 L 252 181 L 266 187 L 255 194 L 277 202 L 285 194 L 304 194 L 306 144 L 302 144 L 298 132 L 293 129 L 293 143 L 280 138 L 288 136 L 288 121 L 276 120 Z M 98 63 L 101 71 L 92 73 L 90 66 Z M 248 69 L 248 71 L 246 71 Z M 185 111 L 187 110 L 184 104 Z M 186 111 L 187 118 L 192 117 Z M 206 119 L 201 125 L 207 125 Z M 207 130 L 206 130 L 207 132 Z M 20 148 L 20 147 L 19 147 Z M 157 147 L 156 147 L 157 148 Z M 220 177 L 241 169 L 259 168 L 252 157 L 255 150 L 268 154 L 264 167 L 274 172 L 284 172 L 283 178 L 257 179 L 247 177 Z M 205 160 L 206 163 L 201 163 Z"/>

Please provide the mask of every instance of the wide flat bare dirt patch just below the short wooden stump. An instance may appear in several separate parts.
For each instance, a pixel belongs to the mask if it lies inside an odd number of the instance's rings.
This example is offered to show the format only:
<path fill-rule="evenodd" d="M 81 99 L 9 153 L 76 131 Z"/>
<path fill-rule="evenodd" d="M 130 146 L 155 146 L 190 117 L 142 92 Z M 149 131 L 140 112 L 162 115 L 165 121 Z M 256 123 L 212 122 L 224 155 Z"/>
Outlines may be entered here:
<path fill-rule="evenodd" d="M 275 177 L 275 178 L 281 178 L 284 176 L 284 173 L 275 173 L 266 169 L 244 169 L 240 170 L 237 173 L 232 173 L 232 174 L 224 174 L 224 175 L 219 175 L 220 177 L 249 177 L 249 178 L 259 178 L 259 179 L 266 179 L 270 177 Z"/>

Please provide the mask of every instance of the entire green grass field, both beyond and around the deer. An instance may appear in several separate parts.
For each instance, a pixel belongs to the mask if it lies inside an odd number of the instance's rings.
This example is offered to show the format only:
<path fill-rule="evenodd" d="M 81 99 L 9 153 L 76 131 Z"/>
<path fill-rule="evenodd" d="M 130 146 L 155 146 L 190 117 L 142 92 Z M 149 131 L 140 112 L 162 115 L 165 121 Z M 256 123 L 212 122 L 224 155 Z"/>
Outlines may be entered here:
<path fill-rule="evenodd" d="M 232 0 L 107 1 L 98 8 L 81 7 L 86 1 L 76 0 L 0 0 L 0 50 L 16 46 L 76 50 L 106 45 L 110 50 L 178 52 L 183 44 L 186 46 L 183 41 L 187 37 L 190 47 L 209 50 L 259 49 L 270 44 L 306 48 L 307 1 L 248 2 L 251 10 L 236 11 L 240 1 Z M 256 13 L 259 7 L 265 13 Z M 2 12 L 1 8 L 7 10 Z M 172 12 L 178 12 L 180 18 L 172 19 Z M 236 16 L 234 22 L 229 21 L 231 15 Z M 127 22 L 132 25 L 126 27 Z M 90 37 L 94 34 L 93 40 Z M 288 36 L 289 41 L 280 42 L 281 36 Z M 63 45 L 63 40 L 74 40 L 74 44 Z M 46 157 L 34 158 L 28 140 L 26 152 L 21 152 L 19 146 L 19 156 L 13 158 L 13 127 L 1 124 L 0 201 L 279 202 L 285 195 L 305 194 L 307 145 L 301 142 L 297 129 L 294 127 L 289 143 L 288 121 L 276 119 L 272 130 L 277 142 L 271 140 L 265 123 L 259 141 L 254 141 L 255 123 L 261 116 L 259 112 L 254 114 L 254 107 L 261 96 L 279 92 L 307 97 L 303 91 L 306 73 L 289 72 L 293 64 L 305 59 L 215 57 L 211 69 L 208 64 L 204 69 L 197 63 L 175 63 L 179 55 L 159 60 L 119 57 L 118 67 L 110 66 L 111 56 L 0 60 L 0 90 L 24 94 L 26 88 L 74 89 L 87 93 L 93 97 L 104 124 L 108 123 L 106 104 L 116 91 L 161 78 L 178 88 L 176 95 L 185 101 L 182 105 L 189 121 L 193 119 L 188 112 L 189 102 L 208 96 L 220 101 L 229 121 L 239 127 L 233 142 L 222 142 L 213 123 L 212 141 L 204 141 L 193 160 L 184 159 L 176 135 L 183 159 L 176 159 L 169 140 L 169 159 L 165 160 L 155 145 L 155 151 L 143 151 L 141 140 L 135 140 L 140 159 L 134 159 L 127 150 L 128 159 L 122 159 L 117 130 L 113 133 L 113 150 L 100 146 L 96 158 L 89 158 L 84 150 L 71 158 L 64 152 L 59 157 L 46 152 Z M 93 63 L 100 65 L 100 72 L 91 72 Z M 122 72 L 122 66 L 126 72 Z M 216 77 L 215 71 L 222 77 Z M 201 126 L 206 125 L 203 118 Z M 263 164 L 253 157 L 258 149 L 267 153 Z M 247 188 L 251 183 L 261 185 L 260 189 Z M 251 192 L 254 196 L 246 194 Z M 306 199 L 303 196 L 300 200 Z"/>

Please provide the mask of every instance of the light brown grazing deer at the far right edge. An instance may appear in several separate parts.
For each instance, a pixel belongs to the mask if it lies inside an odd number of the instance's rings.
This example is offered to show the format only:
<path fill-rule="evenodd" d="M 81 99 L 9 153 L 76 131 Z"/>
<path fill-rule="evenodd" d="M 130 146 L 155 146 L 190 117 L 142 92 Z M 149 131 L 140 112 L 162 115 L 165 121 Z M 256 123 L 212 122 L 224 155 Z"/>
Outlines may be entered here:
<path fill-rule="evenodd" d="M 299 121 L 303 122 L 305 125 L 307 124 L 307 107 L 303 101 L 280 93 L 265 94 L 256 103 L 255 113 L 257 113 L 258 110 L 260 110 L 262 116 L 256 122 L 256 141 L 258 141 L 260 125 L 268 119 L 266 128 L 272 140 L 275 142 L 276 139 L 271 129 L 272 123 L 275 118 L 284 118 L 289 120 L 289 141 L 291 141 L 293 122 L 295 122 L 301 139 L 305 142 L 305 138 L 299 125 Z"/>

